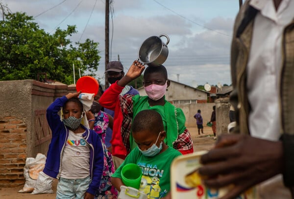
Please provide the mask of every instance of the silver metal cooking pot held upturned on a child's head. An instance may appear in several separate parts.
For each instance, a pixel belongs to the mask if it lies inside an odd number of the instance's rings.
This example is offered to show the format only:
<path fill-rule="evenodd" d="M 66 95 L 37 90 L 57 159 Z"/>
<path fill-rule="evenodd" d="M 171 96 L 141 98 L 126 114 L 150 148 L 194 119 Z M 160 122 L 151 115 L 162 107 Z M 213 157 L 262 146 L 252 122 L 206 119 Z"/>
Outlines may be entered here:
<path fill-rule="evenodd" d="M 167 42 L 164 43 L 160 38 L 166 37 Z M 151 36 L 145 40 L 138 52 L 138 59 L 148 66 L 160 66 L 167 60 L 169 55 L 168 43 L 169 36 L 162 34 L 159 37 Z"/>

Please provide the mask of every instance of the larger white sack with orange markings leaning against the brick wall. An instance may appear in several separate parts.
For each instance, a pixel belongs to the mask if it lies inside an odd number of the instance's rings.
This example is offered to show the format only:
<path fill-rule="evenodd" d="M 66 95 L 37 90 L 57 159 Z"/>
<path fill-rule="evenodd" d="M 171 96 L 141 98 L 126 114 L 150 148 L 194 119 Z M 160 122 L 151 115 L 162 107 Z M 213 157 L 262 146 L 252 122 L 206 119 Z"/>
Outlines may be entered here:
<path fill-rule="evenodd" d="M 34 186 L 38 179 L 39 173 L 45 167 L 46 156 L 38 153 L 36 158 L 27 158 L 25 160 L 24 177 L 25 185 L 19 193 L 30 193 L 34 190 Z"/>

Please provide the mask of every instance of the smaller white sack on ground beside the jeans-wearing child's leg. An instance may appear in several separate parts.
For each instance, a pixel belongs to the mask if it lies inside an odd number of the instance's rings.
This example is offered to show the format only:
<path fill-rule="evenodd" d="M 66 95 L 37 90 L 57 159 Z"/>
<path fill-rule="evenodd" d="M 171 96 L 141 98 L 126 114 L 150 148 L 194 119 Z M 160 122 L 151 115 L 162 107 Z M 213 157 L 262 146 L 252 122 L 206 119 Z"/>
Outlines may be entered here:
<path fill-rule="evenodd" d="M 41 171 L 34 187 L 34 191 L 31 194 L 53 194 L 52 182 L 53 178 Z"/>

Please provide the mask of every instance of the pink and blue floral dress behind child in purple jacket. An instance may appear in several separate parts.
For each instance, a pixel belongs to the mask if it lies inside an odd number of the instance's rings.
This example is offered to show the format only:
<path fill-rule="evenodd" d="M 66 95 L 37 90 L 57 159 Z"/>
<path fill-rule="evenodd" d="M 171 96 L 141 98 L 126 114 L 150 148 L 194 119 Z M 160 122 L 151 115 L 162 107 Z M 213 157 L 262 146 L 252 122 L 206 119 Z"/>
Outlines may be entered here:
<path fill-rule="evenodd" d="M 106 129 L 108 127 L 109 119 L 105 112 L 99 111 L 94 114 L 95 124 L 94 131 L 98 133 L 104 152 L 104 167 L 102 178 L 99 186 L 99 192 L 95 199 L 117 199 L 118 191 L 111 183 L 111 175 L 115 172 L 111 153 L 105 145 Z"/>

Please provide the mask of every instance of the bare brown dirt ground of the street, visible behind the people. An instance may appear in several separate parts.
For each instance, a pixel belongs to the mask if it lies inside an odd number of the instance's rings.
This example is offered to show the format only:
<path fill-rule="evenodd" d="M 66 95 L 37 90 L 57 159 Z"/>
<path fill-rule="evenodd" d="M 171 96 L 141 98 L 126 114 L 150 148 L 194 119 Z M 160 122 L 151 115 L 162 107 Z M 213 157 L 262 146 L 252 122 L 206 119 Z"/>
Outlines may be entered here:
<path fill-rule="evenodd" d="M 213 147 L 215 140 L 213 139 L 213 132 L 211 127 L 204 126 L 204 134 L 198 135 L 197 128 L 188 128 L 194 145 L 194 151 L 209 150 Z M 56 185 L 57 179 L 53 180 L 52 190 L 54 194 L 38 194 L 32 195 L 30 193 L 18 193 L 19 190 L 23 188 L 14 187 L 14 188 L 1 188 L 0 187 L 0 199 L 55 199 L 56 197 Z"/>

